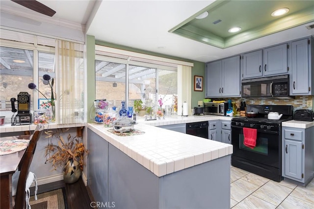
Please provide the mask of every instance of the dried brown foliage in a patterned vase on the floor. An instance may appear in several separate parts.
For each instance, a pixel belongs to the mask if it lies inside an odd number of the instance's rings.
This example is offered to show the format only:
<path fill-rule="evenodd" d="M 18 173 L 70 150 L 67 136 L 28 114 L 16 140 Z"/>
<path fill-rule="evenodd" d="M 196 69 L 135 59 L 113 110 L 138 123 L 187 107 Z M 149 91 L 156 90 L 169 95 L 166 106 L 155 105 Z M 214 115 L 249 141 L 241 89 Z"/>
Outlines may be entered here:
<path fill-rule="evenodd" d="M 78 127 L 77 136 L 68 134 L 67 139 L 63 139 L 62 133 L 69 128 L 59 128 L 55 131 L 46 131 L 46 138 L 50 138 L 46 148 L 46 162 L 52 163 L 56 169 L 58 166 L 64 167 L 63 179 L 67 184 L 78 181 L 80 172 L 83 170 L 84 154 L 88 154 L 84 144 L 81 142 L 82 128 Z M 52 143 L 52 138 L 57 139 L 57 144 Z"/>

